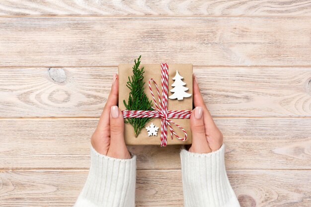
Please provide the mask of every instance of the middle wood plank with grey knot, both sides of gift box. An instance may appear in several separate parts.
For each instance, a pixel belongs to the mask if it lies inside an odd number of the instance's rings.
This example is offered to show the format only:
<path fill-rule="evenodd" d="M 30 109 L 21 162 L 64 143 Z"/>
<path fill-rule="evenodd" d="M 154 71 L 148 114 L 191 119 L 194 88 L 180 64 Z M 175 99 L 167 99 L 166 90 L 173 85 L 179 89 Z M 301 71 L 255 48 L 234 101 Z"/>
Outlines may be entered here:
<path fill-rule="evenodd" d="M 111 68 L 0 68 L 0 117 L 99 117 Z M 311 68 L 194 67 L 214 117 L 310 117 Z"/>

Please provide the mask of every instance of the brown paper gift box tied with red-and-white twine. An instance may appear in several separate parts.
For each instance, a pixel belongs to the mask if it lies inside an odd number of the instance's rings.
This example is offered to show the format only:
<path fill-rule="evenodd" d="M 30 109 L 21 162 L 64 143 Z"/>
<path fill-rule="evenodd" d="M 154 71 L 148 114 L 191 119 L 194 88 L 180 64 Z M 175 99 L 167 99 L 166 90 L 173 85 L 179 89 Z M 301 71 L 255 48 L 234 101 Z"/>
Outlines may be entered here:
<path fill-rule="evenodd" d="M 119 108 L 123 111 L 123 114 L 126 114 L 127 111 L 125 102 L 128 104 L 129 94 L 131 92 L 130 88 L 127 86 L 127 82 L 131 80 L 131 76 L 133 75 L 133 65 L 134 64 L 120 64 L 118 66 L 119 73 Z M 168 74 L 168 82 L 165 84 L 162 80 L 163 72 L 165 73 L 166 66 L 166 74 Z M 156 112 L 150 112 L 154 114 L 160 114 L 157 118 L 150 118 L 148 123 L 144 126 L 141 132 L 135 136 L 134 128 L 130 123 L 126 123 L 125 118 L 125 131 L 124 138 L 125 143 L 128 145 L 161 145 L 165 146 L 166 144 L 190 144 L 192 141 L 191 131 L 190 131 L 190 113 L 192 110 L 192 64 L 141 64 L 140 69 L 144 67 L 143 81 L 144 84 L 144 92 L 147 95 L 148 99 L 152 102 L 153 108 Z M 164 68 L 163 68 L 164 67 Z M 174 78 L 174 80 L 173 80 Z M 150 81 L 150 79 L 153 79 Z M 165 79 L 165 78 L 164 78 Z M 150 82 L 149 82 L 150 81 Z M 166 122 L 165 115 L 161 114 L 160 110 L 162 103 L 158 103 L 158 93 L 156 90 L 156 85 L 158 86 L 159 94 L 162 96 L 162 89 L 164 83 L 167 88 L 167 113 L 169 116 L 173 116 L 173 118 L 167 118 L 169 121 Z M 149 84 L 153 91 L 153 94 L 150 90 Z M 155 100 L 157 103 L 155 103 Z M 138 100 L 134 100 L 138 101 Z M 160 100 L 162 101 L 162 99 Z M 158 106 L 160 109 L 158 110 Z M 164 108 L 164 107 L 162 107 Z M 131 109 L 137 110 L 137 109 Z M 175 118 L 175 111 L 176 116 Z M 186 111 L 186 112 L 184 112 Z M 131 111 L 130 111 L 131 112 Z M 147 113 L 146 112 L 146 113 Z M 188 115 L 183 114 L 188 113 Z M 138 112 L 143 113 L 143 112 Z M 179 114 L 178 114 L 179 113 Z M 131 113 L 127 113 L 128 115 Z M 186 118 L 185 118 L 186 117 Z M 140 119 L 140 118 L 135 118 Z M 163 119 L 163 120 L 162 120 Z M 163 123 L 162 123 L 163 122 Z M 166 143 L 161 141 L 161 128 L 163 126 L 167 126 L 167 136 Z M 179 126 L 179 127 L 178 127 Z M 173 133 L 171 132 L 173 130 Z M 157 130 L 157 131 L 156 131 Z M 177 138 L 175 135 L 179 136 Z M 173 137 L 171 138 L 171 134 Z M 186 135 L 186 139 L 184 139 Z M 163 133 L 164 137 L 164 133 Z M 162 137 L 162 139 L 163 139 Z"/>

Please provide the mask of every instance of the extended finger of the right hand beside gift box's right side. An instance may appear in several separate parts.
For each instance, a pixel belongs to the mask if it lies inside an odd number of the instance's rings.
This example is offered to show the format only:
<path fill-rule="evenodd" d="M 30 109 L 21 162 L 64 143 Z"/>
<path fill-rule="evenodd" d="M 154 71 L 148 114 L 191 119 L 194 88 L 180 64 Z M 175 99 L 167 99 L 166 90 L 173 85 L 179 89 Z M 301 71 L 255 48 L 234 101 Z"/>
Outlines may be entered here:
<path fill-rule="evenodd" d="M 209 110 L 207 109 L 204 103 L 195 74 L 193 74 L 193 104 L 194 107 L 200 106 L 203 108 L 204 110 L 203 116 L 206 130 L 216 128 L 212 115 L 210 114 Z"/>

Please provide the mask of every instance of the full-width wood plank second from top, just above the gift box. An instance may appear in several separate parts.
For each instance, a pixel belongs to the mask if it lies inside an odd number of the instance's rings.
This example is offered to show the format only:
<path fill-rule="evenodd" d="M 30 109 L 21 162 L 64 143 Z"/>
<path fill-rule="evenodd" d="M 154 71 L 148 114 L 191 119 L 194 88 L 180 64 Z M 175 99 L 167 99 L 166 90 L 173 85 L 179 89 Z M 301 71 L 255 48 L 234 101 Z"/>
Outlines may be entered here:
<path fill-rule="evenodd" d="M 0 31 L 0 67 L 116 66 L 139 55 L 146 64 L 311 66 L 308 17 L 14 17 L 0 18 Z"/>

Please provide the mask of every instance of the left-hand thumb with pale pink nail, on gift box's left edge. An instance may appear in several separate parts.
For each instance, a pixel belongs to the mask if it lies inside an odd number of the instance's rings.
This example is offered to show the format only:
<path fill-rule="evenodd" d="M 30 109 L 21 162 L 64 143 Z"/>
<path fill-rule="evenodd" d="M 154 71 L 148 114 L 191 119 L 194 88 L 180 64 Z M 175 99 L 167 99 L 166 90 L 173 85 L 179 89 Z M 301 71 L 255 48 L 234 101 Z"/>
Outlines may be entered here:
<path fill-rule="evenodd" d="M 119 159 L 131 158 L 124 141 L 123 114 L 117 106 L 112 106 L 110 110 L 110 146 L 107 155 Z"/>

